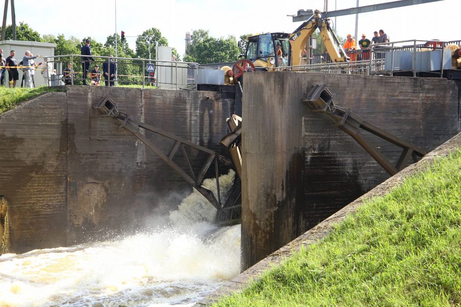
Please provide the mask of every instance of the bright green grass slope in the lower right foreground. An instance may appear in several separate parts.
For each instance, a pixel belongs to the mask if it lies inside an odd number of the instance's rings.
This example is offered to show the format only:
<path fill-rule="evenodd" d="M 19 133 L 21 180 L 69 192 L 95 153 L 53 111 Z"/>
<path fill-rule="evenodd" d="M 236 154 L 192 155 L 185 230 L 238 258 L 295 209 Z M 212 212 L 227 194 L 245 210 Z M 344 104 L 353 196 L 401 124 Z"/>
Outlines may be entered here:
<path fill-rule="evenodd" d="M 215 306 L 460 306 L 461 149 Z"/>

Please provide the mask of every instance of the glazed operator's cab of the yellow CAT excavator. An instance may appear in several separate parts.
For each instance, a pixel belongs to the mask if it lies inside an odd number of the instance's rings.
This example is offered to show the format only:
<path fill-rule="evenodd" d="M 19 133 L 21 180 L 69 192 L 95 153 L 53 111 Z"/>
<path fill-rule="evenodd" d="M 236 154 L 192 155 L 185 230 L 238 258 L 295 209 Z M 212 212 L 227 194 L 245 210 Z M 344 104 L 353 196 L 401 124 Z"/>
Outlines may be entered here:
<path fill-rule="evenodd" d="M 291 57 L 289 37 L 289 34 L 281 32 L 250 36 L 247 38 L 245 58 L 253 62 L 256 70 L 288 66 Z"/>

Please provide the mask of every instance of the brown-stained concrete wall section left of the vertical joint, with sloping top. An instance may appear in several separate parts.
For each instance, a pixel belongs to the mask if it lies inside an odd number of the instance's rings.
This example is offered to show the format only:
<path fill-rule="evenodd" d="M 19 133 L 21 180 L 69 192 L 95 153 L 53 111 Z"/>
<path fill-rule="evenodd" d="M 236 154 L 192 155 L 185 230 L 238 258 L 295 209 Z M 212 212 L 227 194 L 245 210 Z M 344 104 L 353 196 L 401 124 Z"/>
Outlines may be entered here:
<path fill-rule="evenodd" d="M 11 250 L 66 241 L 67 104 L 41 95 L 0 115 L 0 195 L 8 201 Z"/>

